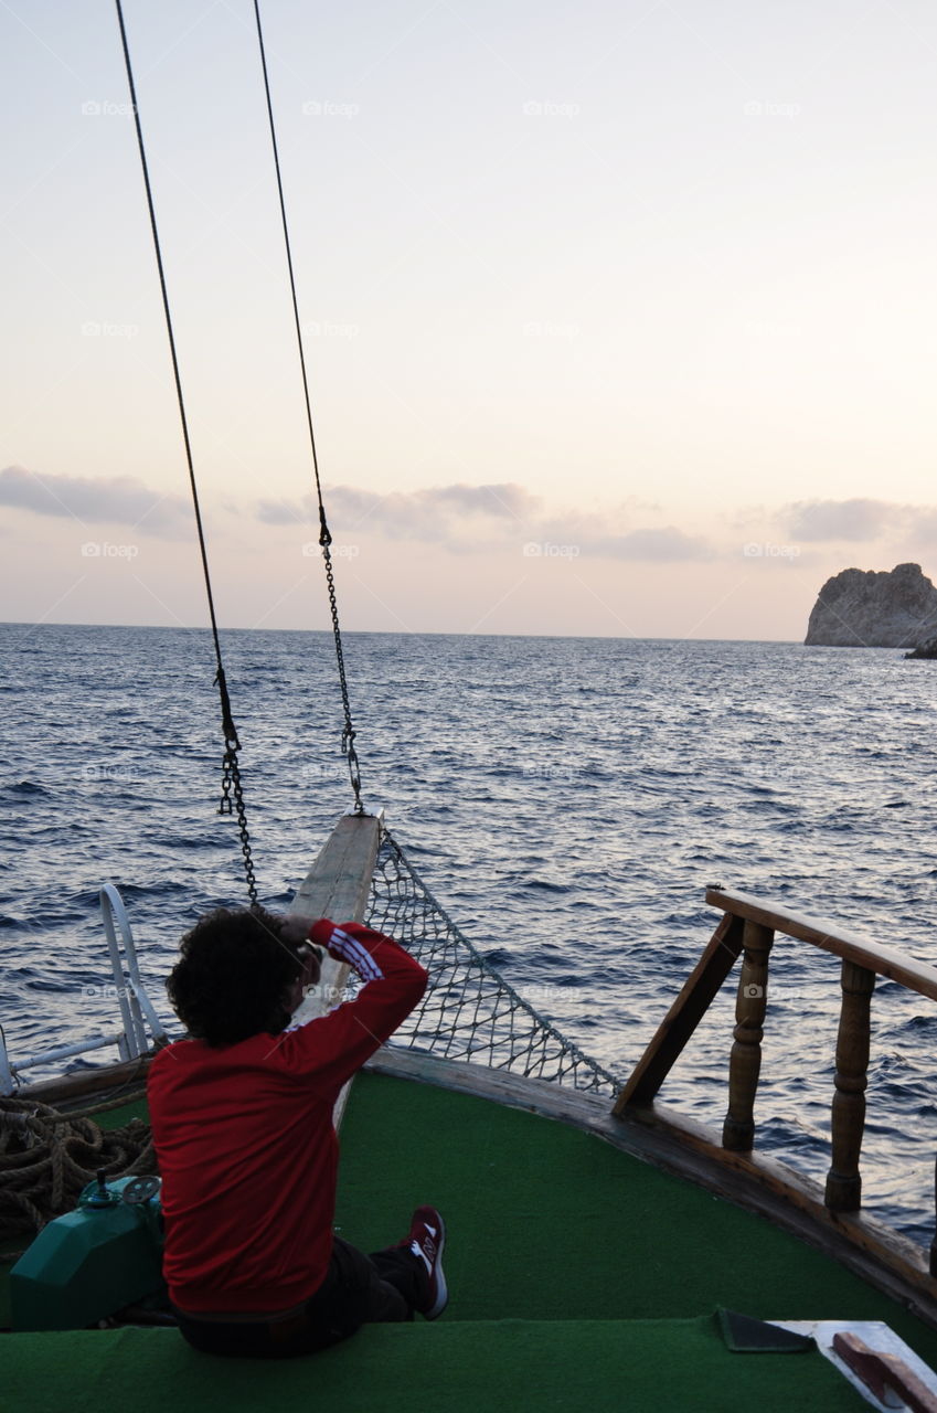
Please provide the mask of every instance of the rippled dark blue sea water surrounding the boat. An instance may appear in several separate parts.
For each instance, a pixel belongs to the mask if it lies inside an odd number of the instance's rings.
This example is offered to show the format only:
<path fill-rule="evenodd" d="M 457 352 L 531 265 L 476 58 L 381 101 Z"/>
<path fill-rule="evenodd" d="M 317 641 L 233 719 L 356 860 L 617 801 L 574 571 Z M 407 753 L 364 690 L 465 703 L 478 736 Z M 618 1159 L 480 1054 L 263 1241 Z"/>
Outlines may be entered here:
<path fill-rule="evenodd" d="M 225 634 L 260 892 L 350 804 L 331 639 Z M 13 1057 L 114 1019 L 98 889 L 144 974 L 243 900 L 205 632 L 0 626 L 0 1019 Z M 779 643 L 349 634 L 365 803 L 507 978 L 626 1074 L 717 921 L 763 893 L 937 962 L 937 664 Z M 719 1123 L 733 986 L 663 1098 Z M 865 1197 L 933 1229 L 937 1007 L 873 998 Z M 168 1015 L 168 1012 L 167 1012 Z M 823 1177 L 838 964 L 779 940 L 760 1142 Z"/>

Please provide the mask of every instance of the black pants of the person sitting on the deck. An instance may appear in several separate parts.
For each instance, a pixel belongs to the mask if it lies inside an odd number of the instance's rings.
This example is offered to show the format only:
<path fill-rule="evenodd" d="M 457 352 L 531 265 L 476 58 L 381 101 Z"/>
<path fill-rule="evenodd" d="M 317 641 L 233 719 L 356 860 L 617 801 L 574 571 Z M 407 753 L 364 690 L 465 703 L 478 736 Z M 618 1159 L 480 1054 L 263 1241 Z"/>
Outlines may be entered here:
<path fill-rule="evenodd" d="M 288 1320 L 225 1324 L 192 1320 L 175 1311 L 179 1331 L 202 1354 L 233 1354 L 253 1359 L 288 1359 L 314 1354 L 355 1334 L 360 1325 L 413 1320 L 425 1272 L 408 1246 L 372 1256 L 335 1236 L 325 1280 L 305 1308 Z"/>

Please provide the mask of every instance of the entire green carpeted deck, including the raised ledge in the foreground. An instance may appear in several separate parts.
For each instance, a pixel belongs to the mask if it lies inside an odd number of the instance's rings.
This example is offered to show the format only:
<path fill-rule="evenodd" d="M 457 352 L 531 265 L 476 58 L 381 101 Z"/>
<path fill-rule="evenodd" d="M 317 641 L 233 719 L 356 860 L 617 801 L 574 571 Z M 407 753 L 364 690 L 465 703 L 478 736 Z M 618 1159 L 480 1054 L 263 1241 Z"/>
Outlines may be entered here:
<path fill-rule="evenodd" d="M 192 1354 L 174 1331 L 7 1335 L 10 1407 L 95 1413 L 127 1396 L 278 1410 L 543 1409 L 759 1413 L 864 1407 L 814 1351 L 729 1354 L 717 1306 L 762 1318 L 885 1320 L 931 1366 L 937 1334 L 835 1263 L 601 1139 L 466 1095 L 360 1075 L 336 1224 L 375 1249 L 410 1211 L 448 1221 L 451 1306 L 295 1364 Z"/>

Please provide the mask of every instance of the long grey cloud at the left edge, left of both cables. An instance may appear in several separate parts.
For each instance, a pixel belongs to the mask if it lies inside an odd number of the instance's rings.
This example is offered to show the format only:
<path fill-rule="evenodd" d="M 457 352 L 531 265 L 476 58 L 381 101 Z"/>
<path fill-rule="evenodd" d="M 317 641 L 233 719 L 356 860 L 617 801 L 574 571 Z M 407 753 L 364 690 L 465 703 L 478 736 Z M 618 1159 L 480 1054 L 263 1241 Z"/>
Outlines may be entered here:
<path fill-rule="evenodd" d="M 0 504 L 81 524 L 131 526 L 170 538 L 192 530 L 192 510 L 182 496 L 161 496 L 136 476 L 54 476 L 6 466 L 0 471 Z"/>

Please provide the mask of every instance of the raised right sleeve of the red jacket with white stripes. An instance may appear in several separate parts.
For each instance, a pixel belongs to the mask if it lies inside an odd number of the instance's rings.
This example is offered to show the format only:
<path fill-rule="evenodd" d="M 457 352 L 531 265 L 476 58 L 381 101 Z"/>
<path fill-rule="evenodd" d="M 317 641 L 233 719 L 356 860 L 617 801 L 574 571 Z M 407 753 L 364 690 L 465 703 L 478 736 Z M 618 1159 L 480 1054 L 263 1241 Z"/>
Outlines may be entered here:
<path fill-rule="evenodd" d="M 288 1030 L 283 1060 L 297 1075 L 314 1077 L 317 1087 L 338 1094 L 406 1020 L 427 988 L 428 974 L 393 938 L 362 923 L 336 926 L 322 918 L 310 935 L 348 962 L 365 985 L 353 1000 Z"/>

